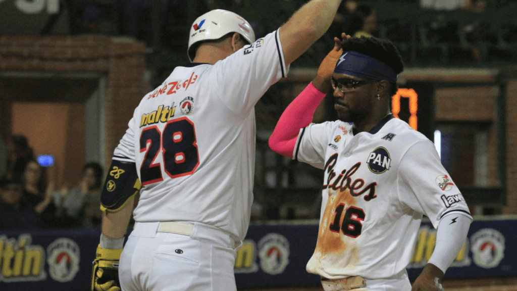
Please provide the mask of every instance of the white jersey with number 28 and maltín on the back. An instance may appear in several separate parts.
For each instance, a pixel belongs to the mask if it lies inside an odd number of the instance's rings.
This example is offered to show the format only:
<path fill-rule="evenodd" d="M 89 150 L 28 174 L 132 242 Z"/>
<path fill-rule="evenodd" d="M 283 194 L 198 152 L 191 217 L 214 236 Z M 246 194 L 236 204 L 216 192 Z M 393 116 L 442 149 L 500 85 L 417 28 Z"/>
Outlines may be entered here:
<path fill-rule="evenodd" d="M 278 31 L 214 65 L 176 67 L 135 109 L 113 159 L 142 183 L 136 222 L 201 222 L 244 239 L 253 201 L 254 106 L 285 77 Z"/>

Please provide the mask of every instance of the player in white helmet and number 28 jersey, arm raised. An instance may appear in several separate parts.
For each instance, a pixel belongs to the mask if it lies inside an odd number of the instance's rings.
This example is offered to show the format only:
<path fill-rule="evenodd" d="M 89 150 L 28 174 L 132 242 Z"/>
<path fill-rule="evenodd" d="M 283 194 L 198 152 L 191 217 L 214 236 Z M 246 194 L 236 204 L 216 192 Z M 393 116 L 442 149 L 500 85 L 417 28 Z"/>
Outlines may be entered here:
<path fill-rule="evenodd" d="M 144 96 L 115 149 L 92 289 L 118 290 L 118 279 L 125 291 L 236 289 L 253 201 L 254 105 L 325 33 L 340 2 L 312 0 L 258 40 L 230 11 L 194 21 L 192 63 Z"/>

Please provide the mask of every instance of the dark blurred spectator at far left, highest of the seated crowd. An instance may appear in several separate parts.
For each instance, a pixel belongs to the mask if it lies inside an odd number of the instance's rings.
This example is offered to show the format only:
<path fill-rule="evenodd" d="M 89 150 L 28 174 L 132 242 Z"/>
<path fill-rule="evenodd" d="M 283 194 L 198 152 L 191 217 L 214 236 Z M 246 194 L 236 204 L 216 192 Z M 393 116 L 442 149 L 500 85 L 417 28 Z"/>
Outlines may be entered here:
<path fill-rule="evenodd" d="M 23 135 L 13 135 L 7 140 L 7 178 L 21 177 L 28 159 L 34 158 L 33 149 Z"/>

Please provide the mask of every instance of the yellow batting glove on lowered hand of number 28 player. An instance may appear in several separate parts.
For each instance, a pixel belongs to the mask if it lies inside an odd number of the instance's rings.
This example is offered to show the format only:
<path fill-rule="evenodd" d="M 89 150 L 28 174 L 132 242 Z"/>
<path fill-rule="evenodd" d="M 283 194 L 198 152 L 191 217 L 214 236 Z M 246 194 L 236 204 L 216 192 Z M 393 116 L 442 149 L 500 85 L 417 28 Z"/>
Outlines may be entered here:
<path fill-rule="evenodd" d="M 101 249 L 97 246 L 97 253 L 93 263 L 92 291 L 120 291 L 118 281 L 118 261 L 122 249 Z"/>

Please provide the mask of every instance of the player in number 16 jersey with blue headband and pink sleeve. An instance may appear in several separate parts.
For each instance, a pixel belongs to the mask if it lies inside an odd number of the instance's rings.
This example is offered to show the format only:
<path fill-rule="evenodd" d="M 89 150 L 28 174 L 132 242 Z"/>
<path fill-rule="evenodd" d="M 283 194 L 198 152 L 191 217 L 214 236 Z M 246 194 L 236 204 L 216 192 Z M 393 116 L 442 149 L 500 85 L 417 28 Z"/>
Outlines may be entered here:
<path fill-rule="evenodd" d="M 269 139 L 274 151 L 325 170 L 307 271 L 321 276 L 326 291 L 443 290 L 472 216 L 433 143 L 390 112 L 403 70 L 396 47 L 378 38 L 343 39 L 334 39 L 318 76 Z M 311 123 L 331 86 L 339 120 Z M 437 227 L 436 247 L 411 286 L 405 267 L 423 215 Z"/>

